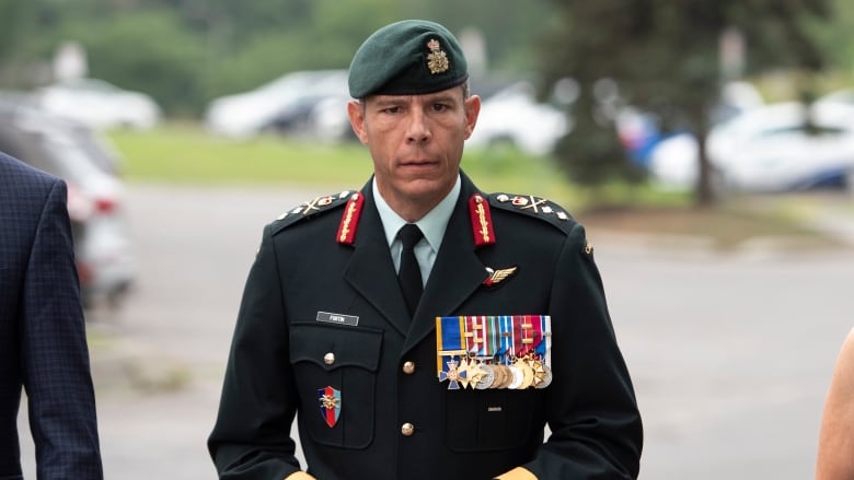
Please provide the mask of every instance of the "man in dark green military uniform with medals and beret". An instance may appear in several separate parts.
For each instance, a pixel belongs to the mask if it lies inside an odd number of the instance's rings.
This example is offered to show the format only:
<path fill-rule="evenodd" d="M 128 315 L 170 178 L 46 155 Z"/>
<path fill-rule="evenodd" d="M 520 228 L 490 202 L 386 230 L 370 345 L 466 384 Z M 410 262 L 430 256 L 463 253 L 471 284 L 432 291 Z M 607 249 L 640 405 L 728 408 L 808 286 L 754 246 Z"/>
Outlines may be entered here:
<path fill-rule="evenodd" d="M 636 478 L 641 418 L 584 229 L 460 172 L 466 81 L 436 23 L 356 52 L 348 114 L 374 175 L 265 229 L 208 443 L 220 478 Z"/>

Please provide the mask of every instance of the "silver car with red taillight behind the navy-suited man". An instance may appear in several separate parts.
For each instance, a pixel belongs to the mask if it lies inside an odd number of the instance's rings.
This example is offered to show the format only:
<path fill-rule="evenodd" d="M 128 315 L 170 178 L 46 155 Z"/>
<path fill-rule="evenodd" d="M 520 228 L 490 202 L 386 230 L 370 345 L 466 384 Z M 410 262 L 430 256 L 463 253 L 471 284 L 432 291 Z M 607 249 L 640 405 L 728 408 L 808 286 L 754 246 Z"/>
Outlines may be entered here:
<path fill-rule="evenodd" d="M 8 99 L 0 101 L 0 151 L 66 180 L 83 303 L 118 305 L 137 259 L 115 153 L 88 127 Z"/>

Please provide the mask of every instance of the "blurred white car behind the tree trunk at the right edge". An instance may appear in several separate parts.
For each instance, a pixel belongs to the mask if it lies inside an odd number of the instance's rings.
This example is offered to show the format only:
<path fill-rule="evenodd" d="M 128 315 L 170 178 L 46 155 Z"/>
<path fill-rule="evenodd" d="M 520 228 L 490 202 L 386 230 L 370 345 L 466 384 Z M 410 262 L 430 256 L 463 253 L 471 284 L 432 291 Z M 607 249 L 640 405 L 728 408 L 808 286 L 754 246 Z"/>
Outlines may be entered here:
<path fill-rule="evenodd" d="M 807 131 L 811 115 L 815 132 Z M 816 102 L 770 104 L 712 129 L 706 141 L 716 182 L 740 191 L 810 188 L 854 173 L 854 106 Z M 649 171 L 662 187 L 688 190 L 697 182 L 697 143 L 682 133 L 661 141 Z"/>

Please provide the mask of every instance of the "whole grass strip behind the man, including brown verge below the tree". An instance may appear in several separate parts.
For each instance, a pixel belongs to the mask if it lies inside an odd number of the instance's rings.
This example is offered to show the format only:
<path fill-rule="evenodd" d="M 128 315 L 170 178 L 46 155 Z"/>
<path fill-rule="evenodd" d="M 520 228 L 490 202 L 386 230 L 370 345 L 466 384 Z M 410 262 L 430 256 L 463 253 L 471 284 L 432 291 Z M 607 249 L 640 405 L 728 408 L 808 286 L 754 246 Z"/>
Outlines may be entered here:
<path fill-rule="evenodd" d="M 116 131 L 109 139 L 124 157 L 125 177 L 131 183 L 301 185 L 335 191 L 360 188 L 372 172 L 367 148 L 357 142 L 332 145 L 276 136 L 233 140 L 191 125 Z M 590 226 L 709 236 L 726 245 L 755 236 L 816 235 L 796 215 L 751 207 L 743 199 L 696 211 L 690 208 L 689 195 L 648 186 L 572 185 L 553 160 L 526 156 L 510 148 L 469 149 L 462 167 L 485 191 L 545 197 Z"/>

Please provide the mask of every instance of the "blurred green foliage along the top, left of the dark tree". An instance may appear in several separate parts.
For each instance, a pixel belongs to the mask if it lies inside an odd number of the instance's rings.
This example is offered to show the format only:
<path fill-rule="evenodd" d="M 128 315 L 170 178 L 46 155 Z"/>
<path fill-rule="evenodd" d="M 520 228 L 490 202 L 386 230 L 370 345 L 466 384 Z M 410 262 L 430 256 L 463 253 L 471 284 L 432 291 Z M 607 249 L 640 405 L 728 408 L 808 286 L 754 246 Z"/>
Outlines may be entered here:
<path fill-rule="evenodd" d="M 284 72 L 347 68 L 370 33 L 404 17 L 476 25 L 491 68 L 523 72 L 549 10 L 509 0 L 0 0 L 0 87 L 48 83 L 54 54 L 71 40 L 91 77 L 197 116 L 209 99 Z"/>

